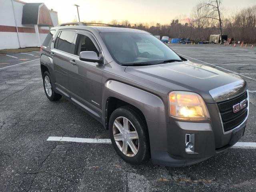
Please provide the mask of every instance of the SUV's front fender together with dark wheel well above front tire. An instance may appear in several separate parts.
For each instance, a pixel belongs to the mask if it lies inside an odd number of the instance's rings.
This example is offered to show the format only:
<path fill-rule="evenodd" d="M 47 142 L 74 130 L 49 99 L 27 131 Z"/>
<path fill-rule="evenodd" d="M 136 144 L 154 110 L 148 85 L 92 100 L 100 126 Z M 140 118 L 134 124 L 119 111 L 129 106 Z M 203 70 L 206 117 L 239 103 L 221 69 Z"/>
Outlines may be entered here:
<path fill-rule="evenodd" d="M 109 80 L 102 90 L 102 122 L 108 128 L 111 113 L 120 106 L 135 108 L 146 120 L 166 122 L 166 111 L 163 101 L 156 95 L 130 86 Z"/>

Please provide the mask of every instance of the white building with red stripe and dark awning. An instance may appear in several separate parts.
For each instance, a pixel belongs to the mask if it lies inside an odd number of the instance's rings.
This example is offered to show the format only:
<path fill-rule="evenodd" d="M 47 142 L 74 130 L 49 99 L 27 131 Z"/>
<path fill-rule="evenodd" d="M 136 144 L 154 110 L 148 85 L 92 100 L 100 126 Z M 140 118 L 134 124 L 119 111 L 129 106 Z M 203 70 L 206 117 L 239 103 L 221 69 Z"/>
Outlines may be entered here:
<path fill-rule="evenodd" d="M 0 49 L 40 47 L 56 25 L 57 12 L 44 3 L 0 0 Z"/>

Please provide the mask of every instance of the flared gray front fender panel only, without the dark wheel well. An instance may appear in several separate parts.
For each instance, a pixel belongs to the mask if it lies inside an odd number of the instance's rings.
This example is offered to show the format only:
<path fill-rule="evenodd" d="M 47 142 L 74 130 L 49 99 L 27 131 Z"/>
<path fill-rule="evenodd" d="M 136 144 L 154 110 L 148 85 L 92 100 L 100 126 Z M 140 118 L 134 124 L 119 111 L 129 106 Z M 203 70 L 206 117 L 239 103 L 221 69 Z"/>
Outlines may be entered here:
<path fill-rule="evenodd" d="M 102 90 L 102 111 L 106 117 L 106 101 L 110 97 L 118 98 L 138 108 L 147 120 L 166 122 L 164 102 L 156 95 L 130 86 L 128 84 L 109 80 Z"/>

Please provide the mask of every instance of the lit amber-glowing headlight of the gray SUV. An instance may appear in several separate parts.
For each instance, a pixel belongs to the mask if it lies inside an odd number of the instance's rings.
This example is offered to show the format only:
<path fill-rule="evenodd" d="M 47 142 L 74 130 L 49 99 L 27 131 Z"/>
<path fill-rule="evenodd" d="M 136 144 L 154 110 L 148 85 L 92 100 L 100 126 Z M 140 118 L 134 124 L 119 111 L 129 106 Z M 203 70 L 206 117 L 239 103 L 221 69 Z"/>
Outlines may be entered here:
<path fill-rule="evenodd" d="M 210 119 L 204 100 L 194 92 L 170 92 L 169 111 L 171 117 L 180 120 L 203 121 Z"/>

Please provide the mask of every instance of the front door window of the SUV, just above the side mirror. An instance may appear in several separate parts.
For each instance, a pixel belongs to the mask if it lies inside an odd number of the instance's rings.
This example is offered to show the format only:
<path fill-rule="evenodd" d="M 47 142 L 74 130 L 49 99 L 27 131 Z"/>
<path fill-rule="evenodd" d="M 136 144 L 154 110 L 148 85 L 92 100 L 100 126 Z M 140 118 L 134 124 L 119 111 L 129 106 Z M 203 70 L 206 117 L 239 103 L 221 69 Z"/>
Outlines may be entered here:
<path fill-rule="evenodd" d="M 85 35 L 78 34 L 76 38 L 76 51 L 75 54 L 79 55 L 81 51 L 94 51 L 99 56 L 99 51 L 92 42 L 92 40 Z"/>

